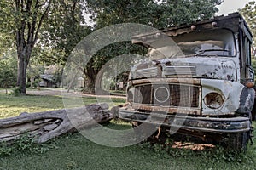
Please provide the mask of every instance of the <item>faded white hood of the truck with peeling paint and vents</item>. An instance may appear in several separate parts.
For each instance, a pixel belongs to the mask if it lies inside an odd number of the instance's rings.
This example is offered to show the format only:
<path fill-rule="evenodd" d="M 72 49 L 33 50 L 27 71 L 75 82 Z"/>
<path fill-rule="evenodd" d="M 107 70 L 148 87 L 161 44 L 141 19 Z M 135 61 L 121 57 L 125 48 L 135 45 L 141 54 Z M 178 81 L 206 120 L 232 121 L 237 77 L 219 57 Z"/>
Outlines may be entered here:
<path fill-rule="evenodd" d="M 158 59 L 137 65 L 134 71 L 148 74 L 148 69 L 158 68 L 161 77 L 197 77 L 221 80 L 236 80 L 236 64 L 232 59 L 221 57 L 189 57 L 177 59 Z M 156 69 L 155 69 L 156 70 Z M 153 70 L 152 70 L 153 71 Z M 150 71 L 149 71 L 150 73 Z M 152 73 L 152 72 L 151 72 Z M 148 76 L 147 76 L 148 77 Z"/>

